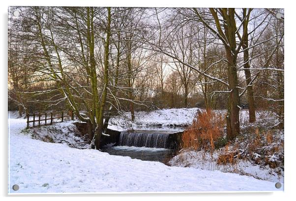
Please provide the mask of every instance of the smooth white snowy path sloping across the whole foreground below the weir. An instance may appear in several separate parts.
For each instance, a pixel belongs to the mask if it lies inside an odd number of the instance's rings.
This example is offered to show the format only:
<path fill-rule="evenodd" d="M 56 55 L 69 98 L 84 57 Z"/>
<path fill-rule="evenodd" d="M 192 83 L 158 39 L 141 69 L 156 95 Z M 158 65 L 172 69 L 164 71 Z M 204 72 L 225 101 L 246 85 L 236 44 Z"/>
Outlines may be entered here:
<path fill-rule="evenodd" d="M 274 183 L 220 171 L 168 167 L 111 156 L 20 133 L 24 119 L 10 119 L 9 193 L 275 191 Z M 18 191 L 12 185 L 18 184 Z M 282 190 L 282 189 L 279 189 Z"/>

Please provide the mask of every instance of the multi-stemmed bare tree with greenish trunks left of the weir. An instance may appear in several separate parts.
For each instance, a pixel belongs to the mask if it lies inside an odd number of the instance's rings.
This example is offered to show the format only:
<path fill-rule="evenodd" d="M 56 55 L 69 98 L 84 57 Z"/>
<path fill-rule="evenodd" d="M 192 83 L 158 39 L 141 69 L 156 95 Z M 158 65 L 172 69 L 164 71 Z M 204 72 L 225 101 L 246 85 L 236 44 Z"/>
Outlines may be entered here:
<path fill-rule="evenodd" d="M 38 81 L 54 81 L 57 84 L 56 89 L 41 90 L 31 94 L 59 92 L 52 104 L 66 101 L 80 120 L 89 123 L 90 138 L 95 139 L 95 146 L 99 148 L 109 78 L 111 8 L 98 10 L 92 7 L 22 7 L 20 9 L 20 20 L 23 24 L 19 32 L 26 38 L 24 41 L 35 42 L 35 49 L 38 50 L 35 54 L 41 56 L 38 60 L 40 65 L 37 69 Z M 101 60 L 103 64 L 101 89 L 98 88 L 97 79 L 96 57 L 99 54 L 96 54 L 95 47 L 100 41 L 104 47 L 104 57 Z M 81 80 L 86 82 L 80 82 Z M 82 110 L 87 111 L 87 116 L 80 112 Z"/>

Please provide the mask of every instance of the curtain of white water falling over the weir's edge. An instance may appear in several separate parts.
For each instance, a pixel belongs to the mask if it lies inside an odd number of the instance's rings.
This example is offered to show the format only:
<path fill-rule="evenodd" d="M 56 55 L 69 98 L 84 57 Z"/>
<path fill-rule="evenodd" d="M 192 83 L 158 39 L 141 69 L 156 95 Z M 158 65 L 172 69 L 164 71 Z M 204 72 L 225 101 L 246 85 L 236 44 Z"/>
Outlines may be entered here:
<path fill-rule="evenodd" d="M 121 132 L 119 146 L 155 147 L 168 148 L 167 140 L 169 134 L 145 133 L 145 132 Z"/>

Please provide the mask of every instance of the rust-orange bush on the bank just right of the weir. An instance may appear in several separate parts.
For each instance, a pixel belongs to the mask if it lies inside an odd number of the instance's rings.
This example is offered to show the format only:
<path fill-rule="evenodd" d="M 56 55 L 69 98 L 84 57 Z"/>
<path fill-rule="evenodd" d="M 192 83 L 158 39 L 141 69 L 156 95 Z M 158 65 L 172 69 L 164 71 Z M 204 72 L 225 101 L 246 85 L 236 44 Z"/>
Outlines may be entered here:
<path fill-rule="evenodd" d="M 182 147 L 193 149 L 215 148 L 215 141 L 224 134 L 224 120 L 221 114 L 210 109 L 199 111 L 192 125 L 182 135 Z"/>

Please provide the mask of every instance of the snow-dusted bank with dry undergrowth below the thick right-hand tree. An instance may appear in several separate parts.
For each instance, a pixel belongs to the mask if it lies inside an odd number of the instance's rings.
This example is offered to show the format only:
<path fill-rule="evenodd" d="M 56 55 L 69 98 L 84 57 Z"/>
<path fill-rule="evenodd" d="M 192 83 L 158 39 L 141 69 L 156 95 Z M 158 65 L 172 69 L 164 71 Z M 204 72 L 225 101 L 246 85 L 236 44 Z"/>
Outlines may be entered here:
<path fill-rule="evenodd" d="M 168 165 L 235 172 L 283 183 L 284 130 L 271 130 L 272 126 L 278 123 L 275 114 L 256 111 L 255 123 L 249 123 L 248 110 L 240 110 L 239 115 L 241 133 L 236 139 L 228 141 L 227 146 L 226 143 L 217 143 L 218 147 L 214 150 L 184 149 L 172 158 Z M 223 140 L 224 138 L 217 141 L 223 144 Z M 233 157 L 232 162 L 221 163 L 221 159 L 225 159 L 227 155 Z"/>

